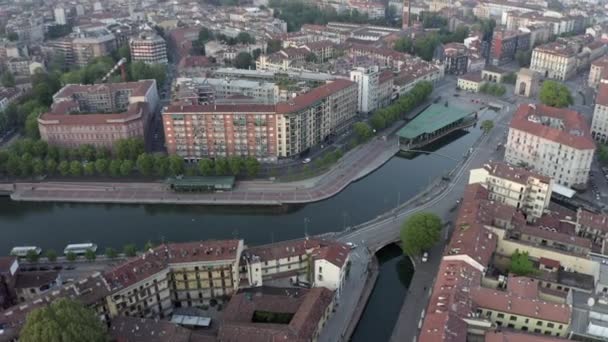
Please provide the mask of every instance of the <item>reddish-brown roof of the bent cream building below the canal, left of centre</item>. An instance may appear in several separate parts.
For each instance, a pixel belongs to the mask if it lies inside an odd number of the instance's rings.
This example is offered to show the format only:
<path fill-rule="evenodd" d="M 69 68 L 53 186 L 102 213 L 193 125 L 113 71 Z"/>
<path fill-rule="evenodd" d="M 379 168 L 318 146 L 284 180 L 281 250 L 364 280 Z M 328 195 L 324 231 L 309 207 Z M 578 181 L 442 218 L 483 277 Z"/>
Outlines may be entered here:
<path fill-rule="evenodd" d="M 208 240 L 160 245 L 104 273 L 113 287 L 125 288 L 155 275 L 170 265 L 190 262 L 235 262 L 242 240 Z"/>

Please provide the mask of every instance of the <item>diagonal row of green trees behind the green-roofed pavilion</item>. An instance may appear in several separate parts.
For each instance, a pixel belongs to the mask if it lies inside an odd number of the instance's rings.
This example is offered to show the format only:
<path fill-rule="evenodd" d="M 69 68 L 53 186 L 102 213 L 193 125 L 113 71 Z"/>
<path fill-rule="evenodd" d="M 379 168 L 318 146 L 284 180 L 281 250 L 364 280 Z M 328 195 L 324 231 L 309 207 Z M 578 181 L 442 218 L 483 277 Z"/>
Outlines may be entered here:
<path fill-rule="evenodd" d="M 433 84 L 431 82 L 419 82 L 392 105 L 376 110 L 370 118 L 371 127 L 381 130 L 390 126 L 395 121 L 402 119 L 407 112 L 424 103 L 432 92 Z"/>

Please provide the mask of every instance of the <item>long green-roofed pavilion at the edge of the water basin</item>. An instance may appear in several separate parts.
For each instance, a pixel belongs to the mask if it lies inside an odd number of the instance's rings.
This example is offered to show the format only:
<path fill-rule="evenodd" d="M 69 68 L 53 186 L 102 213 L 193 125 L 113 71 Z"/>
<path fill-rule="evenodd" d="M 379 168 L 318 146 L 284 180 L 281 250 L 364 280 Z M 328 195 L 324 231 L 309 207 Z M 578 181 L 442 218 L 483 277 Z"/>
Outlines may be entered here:
<path fill-rule="evenodd" d="M 432 104 L 397 132 L 402 149 L 414 149 L 455 130 L 471 126 L 477 113 L 464 108 Z"/>

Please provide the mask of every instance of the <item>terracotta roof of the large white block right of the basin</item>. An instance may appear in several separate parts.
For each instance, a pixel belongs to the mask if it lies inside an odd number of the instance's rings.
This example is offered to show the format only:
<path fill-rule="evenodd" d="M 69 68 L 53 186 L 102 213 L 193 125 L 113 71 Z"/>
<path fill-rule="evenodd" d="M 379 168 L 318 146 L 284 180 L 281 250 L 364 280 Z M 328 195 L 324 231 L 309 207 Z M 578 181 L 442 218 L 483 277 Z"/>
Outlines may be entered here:
<path fill-rule="evenodd" d="M 542 117 L 561 120 L 563 129 L 553 128 L 530 120 Z M 589 133 L 589 125 L 583 116 L 567 108 L 554 108 L 542 104 L 521 104 L 513 115 L 510 127 L 572 148 L 580 150 L 595 149 L 595 142 Z M 572 134 L 571 132 L 576 133 Z"/>

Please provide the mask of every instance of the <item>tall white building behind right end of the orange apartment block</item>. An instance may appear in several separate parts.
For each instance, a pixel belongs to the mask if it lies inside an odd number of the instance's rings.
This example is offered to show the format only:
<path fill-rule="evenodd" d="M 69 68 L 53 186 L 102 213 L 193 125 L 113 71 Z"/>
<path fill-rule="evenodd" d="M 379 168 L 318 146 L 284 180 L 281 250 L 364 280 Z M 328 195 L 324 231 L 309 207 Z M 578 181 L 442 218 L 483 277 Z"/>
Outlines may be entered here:
<path fill-rule="evenodd" d="M 357 110 L 369 113 L 378 108 L 378 84 L 380 70 L 377 65 L 364 68 L 358 67 L 350 72 L 350 80 L 357 83 Z"/>

